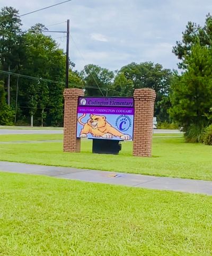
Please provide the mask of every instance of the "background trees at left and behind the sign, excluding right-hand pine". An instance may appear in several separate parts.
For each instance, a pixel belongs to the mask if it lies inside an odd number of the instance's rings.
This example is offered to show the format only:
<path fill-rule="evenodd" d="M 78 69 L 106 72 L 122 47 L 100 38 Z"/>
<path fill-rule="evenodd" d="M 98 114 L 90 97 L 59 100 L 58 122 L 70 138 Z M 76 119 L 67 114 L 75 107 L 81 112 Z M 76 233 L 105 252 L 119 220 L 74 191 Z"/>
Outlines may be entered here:
<path fill-rule="evenodd" d="M 17 10 L 1 9 L 0 91 L 4 118 L 0 124 L 29 124 L 33 117 L 34 125 L 62 126 L 65 53 L 51 36 L 45 35 L 45 25 L 38 23 L 27 31 L 21 26 Z M 136 88 L 149 87 L 157 92 L 155 115 L 162 120 L 169 118 L 164 104 L 169 105 L 172 72 L 162 65 L 131 63 L 110 71 L 89 64 L 81 72 L 73 71 L 74 66 L 69 62 L 69 87 L 82 88 L 87 96 L 123 97 L 133 96 Z"/>

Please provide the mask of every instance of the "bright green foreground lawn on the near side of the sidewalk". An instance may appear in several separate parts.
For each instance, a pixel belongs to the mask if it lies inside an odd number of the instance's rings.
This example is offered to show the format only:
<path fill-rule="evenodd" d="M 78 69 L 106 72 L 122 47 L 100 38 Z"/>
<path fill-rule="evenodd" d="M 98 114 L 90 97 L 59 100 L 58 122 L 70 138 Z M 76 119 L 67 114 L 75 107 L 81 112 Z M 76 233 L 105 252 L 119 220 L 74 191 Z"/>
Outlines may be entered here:
<path fill-rule="evenodd" d="M 212 197 L 0 173 L 0 255 L 212 254 Z"/>

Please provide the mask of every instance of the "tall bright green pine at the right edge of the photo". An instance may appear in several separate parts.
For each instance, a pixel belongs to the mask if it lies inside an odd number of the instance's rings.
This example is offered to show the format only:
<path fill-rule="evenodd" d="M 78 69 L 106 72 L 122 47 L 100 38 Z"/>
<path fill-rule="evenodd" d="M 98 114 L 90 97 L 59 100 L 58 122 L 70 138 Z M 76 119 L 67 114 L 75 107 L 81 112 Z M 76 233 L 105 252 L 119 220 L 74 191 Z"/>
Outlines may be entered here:
<path fill-rule="evenodd" d="M 212 144 L 212 16 L 206 15 L 203 26 L 188 22 L 173 53 L 181 74 L 173 75 L 169 113 L 183 125 L 188 142 L 202 142 L 210 130 Z"/>

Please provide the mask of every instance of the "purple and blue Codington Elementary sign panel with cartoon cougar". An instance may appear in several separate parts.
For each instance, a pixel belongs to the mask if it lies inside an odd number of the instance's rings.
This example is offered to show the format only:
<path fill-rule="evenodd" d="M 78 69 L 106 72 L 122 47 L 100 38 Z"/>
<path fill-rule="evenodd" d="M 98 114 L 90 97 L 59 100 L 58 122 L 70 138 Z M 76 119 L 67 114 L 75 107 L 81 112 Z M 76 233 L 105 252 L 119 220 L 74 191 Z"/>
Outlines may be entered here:
<path fill-rule="evenodd" d="M 133 98 L 79 97 L 77 138 L 133 140 Z"/>

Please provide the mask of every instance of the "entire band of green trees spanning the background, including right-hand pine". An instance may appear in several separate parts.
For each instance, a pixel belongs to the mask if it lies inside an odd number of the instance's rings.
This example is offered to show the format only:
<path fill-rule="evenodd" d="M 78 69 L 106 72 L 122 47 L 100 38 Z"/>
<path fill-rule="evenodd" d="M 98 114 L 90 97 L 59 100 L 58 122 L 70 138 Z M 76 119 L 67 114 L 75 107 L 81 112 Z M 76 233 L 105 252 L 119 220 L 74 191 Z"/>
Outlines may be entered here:
<path fill-rule="evenodd" d="M 34 125 L 62 126 L 65 53 L 45 35 L 45 25 L 27 31 L 21 26 L 17 10 L 1 9 L 0 124 L 29 124 L 33 117 Z M 172 120 L 184 127 L 188 141 L 200 141 L 212 119 L 211 42 L 208 14 L 204 26 L 188 22 L 182 41 L 173 46 L 180 72 L 148 61 L 116 71 L 89 64 L 78 72 L 69 62 L 68 86 L 84 89 L 86 96 L 104 97 L 130 97 L 137 88 L 152 88 L 157 120 Z"/>

